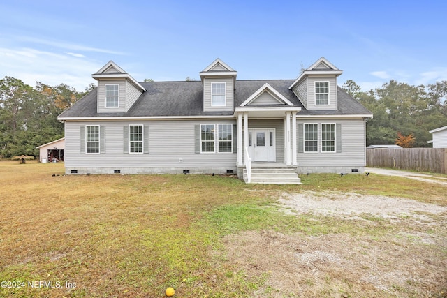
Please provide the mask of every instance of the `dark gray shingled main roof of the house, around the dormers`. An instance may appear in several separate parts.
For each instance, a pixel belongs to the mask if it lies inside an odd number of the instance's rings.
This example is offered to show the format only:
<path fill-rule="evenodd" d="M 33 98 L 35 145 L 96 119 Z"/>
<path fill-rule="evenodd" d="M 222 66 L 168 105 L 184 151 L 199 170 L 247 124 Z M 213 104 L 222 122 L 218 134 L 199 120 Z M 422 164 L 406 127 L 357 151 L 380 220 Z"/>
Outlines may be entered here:
<path fill-rule="evenodd" d="M 240 106 L 265 83 L 270 84 L 293 105 L 301 107 L 298 114 L 305 115 L 371 115 L 365 107 L 337 87 L 338 110 L 308 111 L 288 87 L 294 80 L 236 80 L 234 106 Z M 191 117 L 191 116 L 232 116 L 233 111 L 204 112 L 203 84 L 200 81 L 140 82 L 147 91 L 143 92 L 128 112 L 98 113 L 97 88 L 78 100 L 68 110 L 59 115 L 67 118 L 94 117 Z"/>

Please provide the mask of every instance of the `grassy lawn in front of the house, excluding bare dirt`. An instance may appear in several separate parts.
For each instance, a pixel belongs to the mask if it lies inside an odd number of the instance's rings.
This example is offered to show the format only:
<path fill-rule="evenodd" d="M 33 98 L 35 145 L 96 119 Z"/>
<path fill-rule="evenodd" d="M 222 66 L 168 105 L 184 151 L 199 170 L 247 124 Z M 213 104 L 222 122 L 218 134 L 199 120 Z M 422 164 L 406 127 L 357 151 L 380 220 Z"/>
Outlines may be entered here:
<path fill-rule="evenodd" d="M 0 288 L 0 297 L 164 297 L 168 286 L 176 297 L 250 297 L 268 276 L 225 262 L 226 235 L 381 237 L 393 230 L 367 214 L 367 221 L 286 215 L 274 205 L 279 192 L 350 191 L 446 205 L 445 187 L 379 175 L 312 174 L 301 186 L 272 186 L 211 175 L 64 176 L 63 166 L 0 162 L 0 280 L 76 286 Z"/>

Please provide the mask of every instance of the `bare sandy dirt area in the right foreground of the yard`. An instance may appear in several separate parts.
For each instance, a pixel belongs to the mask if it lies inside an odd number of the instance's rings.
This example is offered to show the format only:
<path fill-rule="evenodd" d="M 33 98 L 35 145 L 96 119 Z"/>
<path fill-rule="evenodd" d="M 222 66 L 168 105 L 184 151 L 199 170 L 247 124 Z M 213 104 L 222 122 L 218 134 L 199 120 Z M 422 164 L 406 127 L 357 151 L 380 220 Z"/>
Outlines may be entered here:
<path fill-rule="evenodd" d="M 254 297 L 447 297 L 446 207 L 312 191 L 284 194 L 279 202 L 289 214 L 313 214 L 316 221 L 352 220 L 353 229 L 380 218 L 388 232 L 228 235 L 228 262 L 265 277 Z"/>

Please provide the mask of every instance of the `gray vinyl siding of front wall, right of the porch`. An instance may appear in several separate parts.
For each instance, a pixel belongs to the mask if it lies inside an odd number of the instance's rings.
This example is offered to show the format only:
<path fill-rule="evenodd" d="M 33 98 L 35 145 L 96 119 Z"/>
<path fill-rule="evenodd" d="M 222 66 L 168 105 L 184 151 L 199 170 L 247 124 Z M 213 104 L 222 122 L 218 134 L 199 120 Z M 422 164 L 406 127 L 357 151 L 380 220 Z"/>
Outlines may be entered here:
<path fill-rule="evenodd" d="M 298 167 L 364 167 L 365 166 L 365 120 L 364 119 L 297 119 L 297 131 L 302 130 L 305 123 L 318 124 L 318 152 L 300 152 L 298 147 Z M 337 152 L 321 152 L 321 124 L 341 125 L 342 146 L 339 148 L 336 140 Z M 338 126 L 340 127 L 340 126 Z M 298 143 L 300 142 L 298 131 Z M 337 131 L 339 133 L 339 131 Z M 336 136 L 337 137 L 337 136 Z M 341 152 L 338 152 L 340 151 Z"/>

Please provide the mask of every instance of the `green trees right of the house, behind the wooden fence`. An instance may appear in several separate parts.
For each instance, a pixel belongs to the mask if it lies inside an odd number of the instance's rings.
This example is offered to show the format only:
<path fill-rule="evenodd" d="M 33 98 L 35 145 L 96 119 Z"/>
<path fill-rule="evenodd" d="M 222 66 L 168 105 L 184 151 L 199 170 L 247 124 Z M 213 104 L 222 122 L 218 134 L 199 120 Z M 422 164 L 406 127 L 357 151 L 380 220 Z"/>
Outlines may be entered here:
<path fill-rule="evenodd" d="M 353 80 L 342 86 L 374 115 L 367 120 L 367 146 L 400 144 L 402 147 L 432 147 L 428 132 L 447 126 L 447 81 L 410 85 L 390 80 L 367 92 Z"/>

